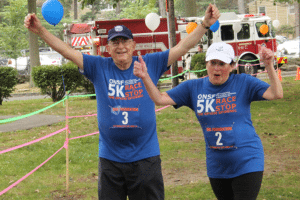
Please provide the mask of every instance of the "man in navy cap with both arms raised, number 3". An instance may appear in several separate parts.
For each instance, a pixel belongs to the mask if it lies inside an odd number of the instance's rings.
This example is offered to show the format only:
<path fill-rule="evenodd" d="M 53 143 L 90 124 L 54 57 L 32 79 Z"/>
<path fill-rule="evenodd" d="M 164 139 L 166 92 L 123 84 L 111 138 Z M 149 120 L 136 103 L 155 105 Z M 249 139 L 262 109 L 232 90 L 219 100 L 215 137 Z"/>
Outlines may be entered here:
<path fill-rule="evenodd" d="M 220 14 L 209 5 L 202 26 L 165 52 L 146 54 L 148 73 L 157 84 L 168 66 L 194 47 Z M 108 33 L 111 58 L 89 56 L 72 49 L 49 31 L 34 14 L 24 26 L 50 47 L 78 65 L 94 84 L 99 127 L 99 199 L 164 199 L 155 105 L 141 79 L 133 75 L 136 43 L 131 31 L 119 25 Z"/>

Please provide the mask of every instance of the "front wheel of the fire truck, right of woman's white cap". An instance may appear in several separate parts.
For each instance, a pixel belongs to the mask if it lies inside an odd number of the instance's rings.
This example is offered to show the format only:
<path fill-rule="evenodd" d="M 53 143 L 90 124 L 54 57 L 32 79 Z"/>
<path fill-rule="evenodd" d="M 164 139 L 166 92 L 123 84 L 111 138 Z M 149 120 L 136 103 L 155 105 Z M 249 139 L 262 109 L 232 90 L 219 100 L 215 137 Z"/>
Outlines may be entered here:
<path fill-rule="evenodd" d="M 239 73 L 245 73 L 245 74 L 250 74 L 252 76 L 256 77 L 257 74 L 257 68 L 259 62 L 255 61 L 253 62 L 253 60 L 255 60 L 256 58 L 252 57 L 252 56 L 244 56 L 241 60 L 243 61 L 239 61 Z"/>

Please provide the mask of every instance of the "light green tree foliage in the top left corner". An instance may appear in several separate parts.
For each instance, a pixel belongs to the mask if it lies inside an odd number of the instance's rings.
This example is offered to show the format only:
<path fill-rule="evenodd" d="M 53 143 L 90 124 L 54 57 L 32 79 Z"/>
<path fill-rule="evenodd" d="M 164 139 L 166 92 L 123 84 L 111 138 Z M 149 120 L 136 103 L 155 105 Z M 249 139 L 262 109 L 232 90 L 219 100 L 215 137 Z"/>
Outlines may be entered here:
<path fill-rule="evenodd" d="M 23 26 L 26 8 L 27 2 L 24 0 L 11 0 L 9 6 L 4 6 L 0 13 L 3 17 L 0 24 L 0 46 L 5 49 L 4 54 L 13 59 L 21 55 L 20 51 L 24 47 L 28 47 L 28 34 Z"/>

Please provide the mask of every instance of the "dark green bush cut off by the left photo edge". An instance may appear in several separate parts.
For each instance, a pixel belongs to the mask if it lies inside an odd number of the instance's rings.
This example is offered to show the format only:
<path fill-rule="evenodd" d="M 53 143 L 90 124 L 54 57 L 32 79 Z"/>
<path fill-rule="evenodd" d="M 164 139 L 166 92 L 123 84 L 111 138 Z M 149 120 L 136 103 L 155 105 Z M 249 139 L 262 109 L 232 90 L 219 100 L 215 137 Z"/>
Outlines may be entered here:
<path fill-rule="evenodd" d="M 14 91 L 18 83 L 17 75 L 18 71 L 12 67 L 0 67 L 0 105 Z"/>

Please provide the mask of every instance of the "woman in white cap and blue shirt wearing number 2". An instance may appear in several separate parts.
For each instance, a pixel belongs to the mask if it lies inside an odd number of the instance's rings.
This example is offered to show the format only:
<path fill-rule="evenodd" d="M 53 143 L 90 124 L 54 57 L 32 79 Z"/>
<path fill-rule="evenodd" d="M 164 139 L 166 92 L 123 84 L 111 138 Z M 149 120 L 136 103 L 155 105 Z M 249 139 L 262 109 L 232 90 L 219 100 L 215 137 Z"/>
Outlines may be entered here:
<path fill-rule="evenodd" d="M 218 199 L 256 199 L 264 171 L 264 151 L 251 121 L 252 101 L 283 98 L 270 49 L 260 47 L 260 59 L 270 85 L 247 74 L 230 74 L 234 50 L 226 43 L 212 44 L 206 53 L 208 77 L 189 80 L 161 93 L 140 57 L 134 74 L 157 105 L 188 106 L 201 124 L 206 142 L 207 174 Z"/>

